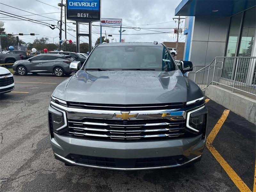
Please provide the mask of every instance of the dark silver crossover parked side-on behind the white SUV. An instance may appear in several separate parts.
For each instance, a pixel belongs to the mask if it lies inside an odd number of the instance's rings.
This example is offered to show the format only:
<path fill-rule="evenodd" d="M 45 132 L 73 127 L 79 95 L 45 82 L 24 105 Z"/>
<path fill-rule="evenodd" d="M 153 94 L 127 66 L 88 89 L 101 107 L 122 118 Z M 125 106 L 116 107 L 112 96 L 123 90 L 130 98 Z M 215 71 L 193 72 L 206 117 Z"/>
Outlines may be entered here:
<path fill-rule="evenodd" d="M 27 73 L 52 73 L 61 77 L 64 74 L 70 75 L 69 64 L 73 61 L 71 56 L 62 54 L 39 54 L 27 60 L 16 61 L 12 68 L 19 75 Z"/>

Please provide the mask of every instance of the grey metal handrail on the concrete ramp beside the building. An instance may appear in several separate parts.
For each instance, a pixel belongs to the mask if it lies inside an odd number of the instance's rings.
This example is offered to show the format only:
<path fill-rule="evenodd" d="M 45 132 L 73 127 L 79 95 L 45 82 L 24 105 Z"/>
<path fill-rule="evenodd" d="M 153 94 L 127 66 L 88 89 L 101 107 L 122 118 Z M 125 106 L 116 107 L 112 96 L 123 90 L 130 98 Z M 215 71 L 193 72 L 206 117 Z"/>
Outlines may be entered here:
<path fill-rule="evenodd" d="M 210 84 L 221 84 L 233 92 L 256 95 L 256 57 L 215 57 L 209 65 L 190 73 L 202 90 Z"/>

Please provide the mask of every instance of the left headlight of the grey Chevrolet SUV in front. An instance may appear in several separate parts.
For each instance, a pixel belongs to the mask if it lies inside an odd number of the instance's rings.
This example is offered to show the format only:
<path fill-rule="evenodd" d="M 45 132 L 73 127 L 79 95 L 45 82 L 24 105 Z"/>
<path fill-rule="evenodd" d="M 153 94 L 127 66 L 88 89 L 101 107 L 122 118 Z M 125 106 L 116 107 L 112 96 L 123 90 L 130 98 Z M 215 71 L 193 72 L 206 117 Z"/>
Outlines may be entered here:
<path fill-rule="evenodd" d="M 66 112 L 51 106 L 51 110 L 49 108 L 49 121 L 51 121 L 51 126 L 53 131 L 59 131 L 67 126 L 67 118 L 66 118 Z"/>

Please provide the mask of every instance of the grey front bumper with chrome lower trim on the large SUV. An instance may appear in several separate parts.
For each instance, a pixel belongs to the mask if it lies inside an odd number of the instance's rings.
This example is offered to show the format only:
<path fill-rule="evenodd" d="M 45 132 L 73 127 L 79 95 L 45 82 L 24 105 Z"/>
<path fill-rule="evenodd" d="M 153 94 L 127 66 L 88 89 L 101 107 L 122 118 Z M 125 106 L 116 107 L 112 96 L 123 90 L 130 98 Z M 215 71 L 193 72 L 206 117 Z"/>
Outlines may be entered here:
<path fill-rule="evenodd" d="M 70 165 L 115 170 L 146 170 L 177 167 L 199 161 L 203 154 L 205 140 L 202 140 L 202 135 L 198 135 L 191 138 L 162 141 L 116 142 L 69 138 L 54 133 L 54 137 L 51 138 L 51 146 L 55 158 Z M 68 156 L 70 154 L 99 158 L 114 158 L 116 163 L 120 159 L 124 161 L 128 160 L 128 163 L 127 166 L 124 164 L 104 166 L 92 163 L 79 163 L 69 159 Z M 146 167 L 134 167 L 134 162 L 132 162 L 134 159 L 157 159 L 170 156 L 184 156 L 184 161 Z M 131 162 L 129 160 L 131 160 Z"/>

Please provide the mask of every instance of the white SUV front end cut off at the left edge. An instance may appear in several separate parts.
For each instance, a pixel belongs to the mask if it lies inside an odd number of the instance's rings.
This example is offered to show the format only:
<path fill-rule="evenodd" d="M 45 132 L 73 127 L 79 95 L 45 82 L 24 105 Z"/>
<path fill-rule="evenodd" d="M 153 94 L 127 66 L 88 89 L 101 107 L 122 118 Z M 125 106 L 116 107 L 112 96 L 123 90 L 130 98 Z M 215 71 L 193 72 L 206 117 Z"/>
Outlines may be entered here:
<path fill-rule="evenodd" d="M 13 75 L 8 69 L 0 67 L 0 94 L 11 92 L 13 89 Z"/>

